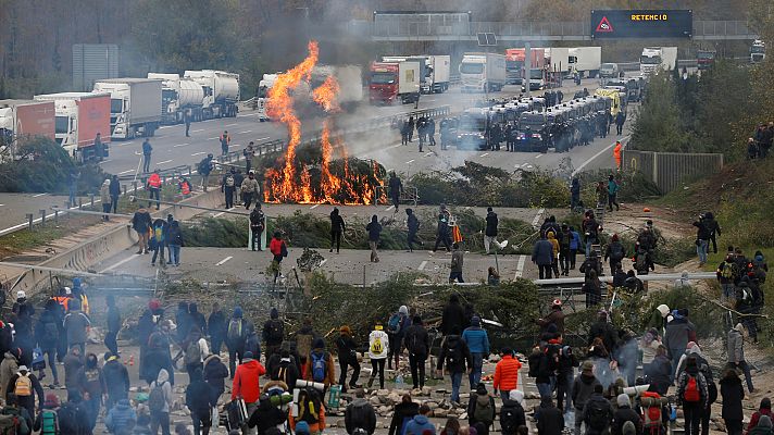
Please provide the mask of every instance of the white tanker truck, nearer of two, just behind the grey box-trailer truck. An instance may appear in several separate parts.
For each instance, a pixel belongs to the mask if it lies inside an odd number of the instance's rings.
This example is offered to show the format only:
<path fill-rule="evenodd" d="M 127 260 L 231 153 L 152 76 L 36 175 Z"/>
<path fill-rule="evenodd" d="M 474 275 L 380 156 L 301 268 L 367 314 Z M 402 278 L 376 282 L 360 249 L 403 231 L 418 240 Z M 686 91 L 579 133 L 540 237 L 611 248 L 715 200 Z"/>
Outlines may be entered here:
<path fill-rule="evenodd" d="M 161 121 L 163 124 L 179 124 L 188 112 L 192 122 L 202 121 L 204 114 L 204 88 L 179 74 L 148 73 L 148 78 L 161 80 Z"/>

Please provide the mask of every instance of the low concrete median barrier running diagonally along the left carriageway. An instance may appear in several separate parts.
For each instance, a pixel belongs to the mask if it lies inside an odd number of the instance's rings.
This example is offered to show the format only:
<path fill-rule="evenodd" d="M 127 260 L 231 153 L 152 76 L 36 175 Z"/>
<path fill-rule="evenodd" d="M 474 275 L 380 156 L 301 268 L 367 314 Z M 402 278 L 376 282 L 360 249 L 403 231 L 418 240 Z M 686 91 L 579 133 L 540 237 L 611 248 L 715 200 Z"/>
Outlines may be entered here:
<path fill-rule="evenodd" d="M 180 201 L 180 204 L 219 208 L 223 203 L 223 194 L 219 189 L 212 189 L 207 194 L 201 194 L 192 198 Z M 191 209 L 180 206 L 170 206 L 152 213 L 152 216 L 166 219 L 166 215 L 172 213 L 176 220 L 189 220 L 197 214 L 203 213 L 203 210 Z M 64 269 L 73 271 L 88 271 L 95 264 L 104 261 L 137 243 L 137 233 L 132 229 L 132 226 L 124 223 L 117 223 L 105 233 L 95 236 L 83 244 L 79 244 L 59 256 L 50 258 L 40 266 Z M 50 271 L 28 269 L 20 276 L 14 276 L 10 279 L 13 284 L 11 290 L 24 290 L 27 296 L 42 291 L 50 285 Z"/>

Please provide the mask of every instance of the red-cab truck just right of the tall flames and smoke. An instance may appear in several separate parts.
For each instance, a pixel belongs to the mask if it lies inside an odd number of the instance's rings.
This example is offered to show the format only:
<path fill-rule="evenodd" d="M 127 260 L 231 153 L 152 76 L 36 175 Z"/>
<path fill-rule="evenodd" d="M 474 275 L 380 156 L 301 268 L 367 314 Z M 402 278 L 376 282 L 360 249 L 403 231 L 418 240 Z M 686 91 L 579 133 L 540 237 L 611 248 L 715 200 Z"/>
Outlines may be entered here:
<path fill-rule="evenodd" d="M 416 102 L 420 99 L 420 62 L 372 62 L 369 99 L 372 104 Z"/>

